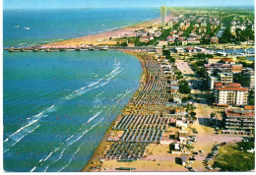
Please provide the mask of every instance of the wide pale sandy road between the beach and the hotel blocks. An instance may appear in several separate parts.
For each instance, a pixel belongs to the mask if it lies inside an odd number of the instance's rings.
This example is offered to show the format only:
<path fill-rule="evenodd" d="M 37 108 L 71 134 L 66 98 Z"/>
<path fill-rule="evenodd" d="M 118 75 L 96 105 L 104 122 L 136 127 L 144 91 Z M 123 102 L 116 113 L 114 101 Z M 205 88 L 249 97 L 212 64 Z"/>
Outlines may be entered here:
<path fill-rule="evenodd" d="M 192 164 L 192 167 L 197 171 L 209 171 L 205 168 L 203 160 L 206 159 L 207 154 L 211 152 L 214 145 L 224 142 L 235 143 L 241 141 L 243 138 L 236 135 L 215 134 L 211 113 L 217 113 L 221 110 L 215 109 L 211 105 L 207 104 L 207 92 L 201 90 L 201 87 L 204 87 L 204 85 L 202 85 L 203 81 L 196 78 L 194 71 L 190 68 L 187 62 L 184 62 L 183 60 L 176 60 L 175 65 L 177 66 L 177 69 L 183 73 L 186 81 L 190 83 L 193 82 L 193 85 L 190 86 L 191 94 L 198 97 L 198 100 L 195 103 L 197 120 L 191 127 L 196 128 L 198 131 L 198 134 L 196 134 L 197 142 L 193 146 L 195 147 L 195 150 L 203 150 L 203 153 L 195 155 L 196 160 Z"/>

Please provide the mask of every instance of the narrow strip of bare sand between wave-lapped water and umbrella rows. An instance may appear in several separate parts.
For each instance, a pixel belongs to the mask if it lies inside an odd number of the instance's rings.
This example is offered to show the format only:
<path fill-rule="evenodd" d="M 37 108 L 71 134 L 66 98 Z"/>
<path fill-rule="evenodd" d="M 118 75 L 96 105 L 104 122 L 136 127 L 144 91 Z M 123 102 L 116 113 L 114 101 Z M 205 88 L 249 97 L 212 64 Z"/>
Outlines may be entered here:
<path fill-rule="evenodd" d="M 143 64 L 143 60 L 142 58 L 135 54 L 136 52 L 141 53 L 141 50 L 132 50 L 132 51 L 127 51 L 127 50 L 122 50 L 119 49 L 119 51 L 122 51 L 124 53 L 130 54 L 130 55 L 134 55 L 137 59 L 139 59 L 140 64 L 141 64 L 141 68 L 142 68 L 142 74 L 141 74 L 141 78 L 140 78 L 140 86 L 137 88 L 137 90 L 135 91 L 134 95 L 132 96 L 132 98 L 125 104 L 125 106 L 122 108 L 122 110 L 120 111 L 120 113 L 116 116 L 116 118 L 111 122 L 111 124 L 109 125 L 108 129 L 106 130 L 102 140 L 100 141 L 100 143 L 96 146 L 96 150 L 93 153 L 92 157 L 89 159 L 89 161 L 87 162 L 87 164 L 80 170 L 80 172 L 87 172 L 90 171 L 90 166 L 91 164 L 94 164 L 96 161 L 100 161 L 103 153 L 104 153 L 104 148 L 106 146 L 110 146 L 112 143 L 111 142 L 107 142 L 106 140 L 109 138 L 111 132 L 112 132 L 112 127 L 115 125 L 115 123 L 119 122 L 122 119 L 122 113 L 124 111 L 124 109 L 126 107 L 129 106 L 129 104 L 131 103 L 131 101 L 134 99 L 134 97 L 137 95 L 137 93 L 139 92 L 139 89 L 141 87 L 143 87 L 143 83 L 144 83 L 144 77 L 146 74 L 146 68 Z M 92 163 L 93 162 L 93 163 Z"/>

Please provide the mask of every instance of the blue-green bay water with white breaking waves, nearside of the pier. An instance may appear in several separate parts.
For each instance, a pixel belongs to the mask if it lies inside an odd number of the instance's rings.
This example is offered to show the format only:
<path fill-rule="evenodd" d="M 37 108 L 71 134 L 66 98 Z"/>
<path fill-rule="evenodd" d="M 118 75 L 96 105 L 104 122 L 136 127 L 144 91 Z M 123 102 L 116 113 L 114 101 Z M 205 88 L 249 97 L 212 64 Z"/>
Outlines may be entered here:
<path fill-rule="evenodd" d="M 139 86 L 120 51 L 4 52 L 4 168 L 79 171 Z"/>

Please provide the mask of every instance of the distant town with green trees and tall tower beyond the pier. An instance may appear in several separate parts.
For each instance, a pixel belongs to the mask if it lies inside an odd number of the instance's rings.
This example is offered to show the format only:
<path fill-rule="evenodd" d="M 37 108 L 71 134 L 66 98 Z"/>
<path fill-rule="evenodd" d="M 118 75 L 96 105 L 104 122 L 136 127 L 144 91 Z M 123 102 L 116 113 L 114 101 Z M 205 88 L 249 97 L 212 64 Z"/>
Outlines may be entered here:
<path fill-rule="evenodd" d="M 228 9 L 169 9 L 160 8 L 160 25 L 135 31 L 134 37 L 128 37 L 129 46 L 185 46 L 233 43 L 239 45 L 254 44 L 253 11 L 230 11 Z M 120 43 L 126 45 L 126 43 Z"/>

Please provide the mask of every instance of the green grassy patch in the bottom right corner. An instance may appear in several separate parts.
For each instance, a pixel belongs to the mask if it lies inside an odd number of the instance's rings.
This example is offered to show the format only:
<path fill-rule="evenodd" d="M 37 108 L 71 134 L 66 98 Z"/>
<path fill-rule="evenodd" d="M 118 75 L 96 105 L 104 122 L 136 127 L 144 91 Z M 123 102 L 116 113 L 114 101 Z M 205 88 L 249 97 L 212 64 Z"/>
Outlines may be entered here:
<path fill-rule="evenodd" d="M 255 168 L 255 155 L 246 151 L 254 147 L 253 142 L 222 146 L 214 162 L 221 171 L 250 171 Z"/>

